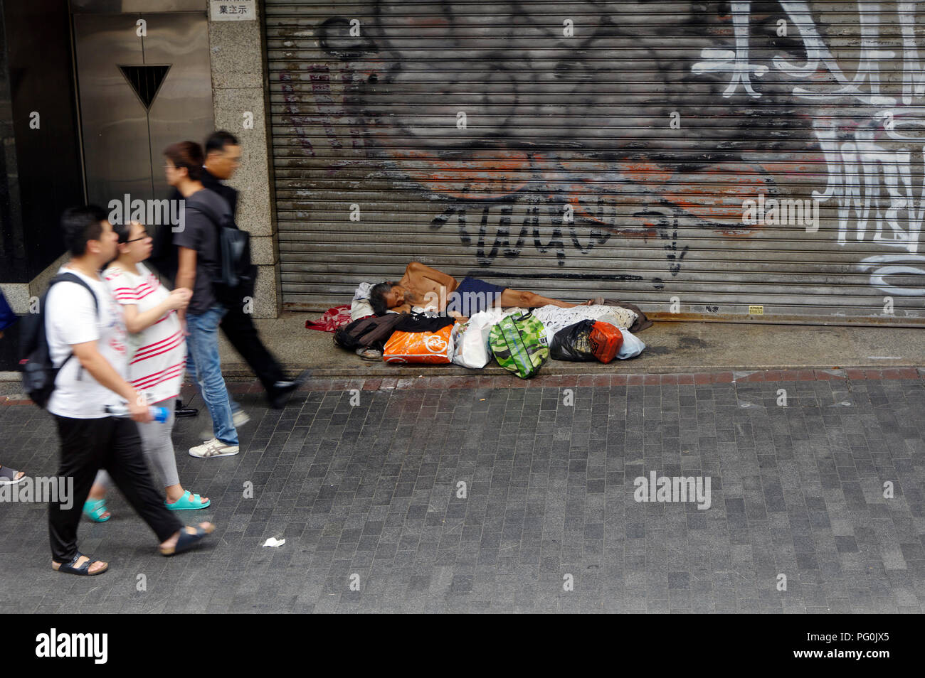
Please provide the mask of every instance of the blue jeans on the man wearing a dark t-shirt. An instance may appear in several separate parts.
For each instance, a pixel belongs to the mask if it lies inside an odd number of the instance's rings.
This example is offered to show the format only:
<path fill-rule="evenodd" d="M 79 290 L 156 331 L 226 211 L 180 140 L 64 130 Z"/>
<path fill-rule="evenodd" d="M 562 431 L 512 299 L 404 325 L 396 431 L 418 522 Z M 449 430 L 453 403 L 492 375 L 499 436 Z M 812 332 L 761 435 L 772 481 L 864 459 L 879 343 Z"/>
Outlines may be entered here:
<path fill-rule="evenodd" d="M 238 431 L 234 428 L 233 412 L 240 406 L 228 396 L 218 357 L 218 323 L 227 312 L 228 309 L 216 304 L 200 315 L 187 314 L 186 329 L 190 336 L 186 339 L 186 369 L 209 408 L 216 438 L 228 445 L 237 445 Z"/>

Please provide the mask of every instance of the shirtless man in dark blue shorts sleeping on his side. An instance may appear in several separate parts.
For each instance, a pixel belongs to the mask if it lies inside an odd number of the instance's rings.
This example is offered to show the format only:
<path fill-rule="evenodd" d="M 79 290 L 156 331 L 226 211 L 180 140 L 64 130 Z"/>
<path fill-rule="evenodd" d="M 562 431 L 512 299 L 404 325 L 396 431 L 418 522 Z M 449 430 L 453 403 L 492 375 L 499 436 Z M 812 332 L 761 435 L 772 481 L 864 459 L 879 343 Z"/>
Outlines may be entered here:
<path fill-rule="evenodd" d="M 405 269 L 405 274 L 397 283 L 379 283 L 370 291 L 370 305 L 376 315 L 383 315 L 389 309 L 398 312 L 409 311 L 413 306 L 446 311 L 454 318 L 468 318 L 475 313 L 494 306 L 519 306 L 530 309 L 552 304 L 561 309 L 575 306 L 589 306 L 602 303 L 603 299 L 591 299 L 585 304 L 570 304 L 548 297 L 540 297 L 533 292 L 500 287 L 476 278 L 463 278 L 462 283 L 447 273 L 425 266 L 419 261 L 412 261 Z"/>

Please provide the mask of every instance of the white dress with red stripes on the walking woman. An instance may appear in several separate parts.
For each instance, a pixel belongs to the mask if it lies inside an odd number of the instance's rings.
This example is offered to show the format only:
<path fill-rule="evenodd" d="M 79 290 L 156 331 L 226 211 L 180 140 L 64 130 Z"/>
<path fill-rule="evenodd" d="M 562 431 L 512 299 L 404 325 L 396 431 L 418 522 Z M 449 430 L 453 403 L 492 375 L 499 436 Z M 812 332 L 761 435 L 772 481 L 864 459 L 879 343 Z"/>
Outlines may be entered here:
<path fill-rule="evenodd" d="M 136 306 L 144 313 L 163 303 L 170 293 L 144 264 L 137 267 L 140 274 L 110 266 L 103 276 L 119 304 Z M 186 337 L 177 311 L 168 311 L 146 330 L 129 334 L 129 341 L 131 385 L 145 393 L 150 403 L 177 397 L 186 369 Z"/>

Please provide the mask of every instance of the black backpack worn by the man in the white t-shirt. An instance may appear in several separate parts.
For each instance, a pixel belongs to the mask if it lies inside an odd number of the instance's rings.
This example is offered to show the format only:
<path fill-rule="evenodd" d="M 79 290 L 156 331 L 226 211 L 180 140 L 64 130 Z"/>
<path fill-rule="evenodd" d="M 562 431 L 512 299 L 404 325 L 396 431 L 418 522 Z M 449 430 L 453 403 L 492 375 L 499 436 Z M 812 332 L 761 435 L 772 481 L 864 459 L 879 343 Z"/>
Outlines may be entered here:
<path fill-rule="evenodd" d="M 58 372 L 74 356 L 71 353 L 61 365 L 55 367 L 52 362 L 51 352 L 48 349 L 48 337 L 45 335 L 45 300 L 48 298 L 48 292 L 52 286 L 65 281 L 77 283 L 86 289 L 90 296 L 93 297 L 93 307 L 96 309 L 97 316 L 99 316 L 100 312 L 100 303 L 90 285 L 87 285 L 79 275 L 60 273 L 52 278 L 51 283 L 48 284 L 48 289 L 39 299 L 39 311 L 30 313 L 22 319 L 22 325 L 19 328 L 19 354 L 21 357 L 19 369 L 22 372 L 22 389 L 29 394 L 33 403 L 42 408 L 48 406 L 48 400 L 55 390 L 55 380 Z M 80 376 L 78 376 L 78 379 L 80 379 Z"/>

